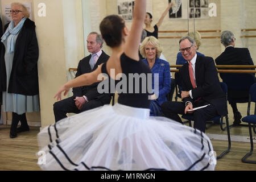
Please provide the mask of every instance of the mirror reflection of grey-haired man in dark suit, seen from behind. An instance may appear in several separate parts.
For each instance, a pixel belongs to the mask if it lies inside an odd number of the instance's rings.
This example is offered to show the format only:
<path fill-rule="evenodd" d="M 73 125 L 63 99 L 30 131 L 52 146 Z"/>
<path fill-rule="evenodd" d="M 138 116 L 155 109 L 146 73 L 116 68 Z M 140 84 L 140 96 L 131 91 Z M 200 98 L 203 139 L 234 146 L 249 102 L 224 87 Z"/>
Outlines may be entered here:
<path fill-rule="evenodd" d="M 225 46 L 225 51 L 216 58 L 216 65 L 254 65 L 249 49 L 235 48 L 235 42 L 236 38 L 234 38 L 234 34 L 231 31 L 223 31 L 221 33 L 221 43 Z M 220 73 L 220 77 L 222 78 L 222 73 Z M 248 97 L 248 93 L 239 92 L 237 94 L 237 97 Z M 234 113 L 234 125 L 238 125 L 241 123 L 242 115 L 238 111 L 235 102 L 229 101 L 229 104 Z"/>

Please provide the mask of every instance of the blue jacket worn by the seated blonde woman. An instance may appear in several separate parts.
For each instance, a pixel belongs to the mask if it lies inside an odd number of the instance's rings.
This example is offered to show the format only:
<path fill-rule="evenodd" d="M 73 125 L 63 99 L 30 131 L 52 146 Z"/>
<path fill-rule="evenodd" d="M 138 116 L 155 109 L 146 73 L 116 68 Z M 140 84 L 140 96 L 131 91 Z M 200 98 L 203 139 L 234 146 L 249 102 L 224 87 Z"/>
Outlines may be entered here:
<path fill-rule="evenodd" d="M 147 59 L 142 61 L 148 65 Z M 159 74 L 159 96 L 156 101 L 160 106 L 167 101 L 167 94 L 171 91 L 170 64 L 167 61 L 156 58 L 151 71 L 153 74 L 152 88 L 154 88 L 154 74 Z"/>

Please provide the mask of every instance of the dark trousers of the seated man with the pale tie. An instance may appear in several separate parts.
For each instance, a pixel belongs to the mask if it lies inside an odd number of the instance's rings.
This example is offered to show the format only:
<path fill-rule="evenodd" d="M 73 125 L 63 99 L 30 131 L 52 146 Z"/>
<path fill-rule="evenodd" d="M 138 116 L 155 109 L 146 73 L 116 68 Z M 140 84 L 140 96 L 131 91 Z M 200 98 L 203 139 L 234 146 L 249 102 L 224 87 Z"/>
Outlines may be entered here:
<path fill-rule="evenodd" d="M 58 122 L 61 119 L 67 118 L 67 113 L 79 114 L 83 111 L 94 109 L 96 107 L 100 107 L 103 105 L 104 104 L 100 100 L 92 100 L 92 101 L 86 102 L 82 106 L 82 109 L 79 110 L 76 107 L 73 97 L 66 98 L 64 100 L 55 102 L 55 104 L 53 104 L 53 112 L 54 112 L 54 116 L 55 116 L 55 122 Z"/>

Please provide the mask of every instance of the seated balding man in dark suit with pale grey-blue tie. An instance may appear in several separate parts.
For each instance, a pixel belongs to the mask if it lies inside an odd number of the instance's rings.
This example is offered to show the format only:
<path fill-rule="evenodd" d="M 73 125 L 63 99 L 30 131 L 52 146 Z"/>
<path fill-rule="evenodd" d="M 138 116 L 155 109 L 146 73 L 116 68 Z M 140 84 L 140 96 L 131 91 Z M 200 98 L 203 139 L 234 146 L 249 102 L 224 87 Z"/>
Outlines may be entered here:
<path fill-rule="evenodd" d="M 109 56 L 101 50 L 103 39 L 97 32 L 91 32 L 87 38 L 87 49 L 91 55 L 80 60 L 77 67 L 76 77 L 93 72 L 99 65 L 108 61 Z M 97 91 L 99 83 L 89 86 L 73 88 L 73 96 L 65 100 L 55 102 L 53 111 L 55 122 L 67 117 L 67 113 L 81 113 L 82 111 L 94 109 L 96 107 L 110 104 L 110 94 L 100 94 Z"/>

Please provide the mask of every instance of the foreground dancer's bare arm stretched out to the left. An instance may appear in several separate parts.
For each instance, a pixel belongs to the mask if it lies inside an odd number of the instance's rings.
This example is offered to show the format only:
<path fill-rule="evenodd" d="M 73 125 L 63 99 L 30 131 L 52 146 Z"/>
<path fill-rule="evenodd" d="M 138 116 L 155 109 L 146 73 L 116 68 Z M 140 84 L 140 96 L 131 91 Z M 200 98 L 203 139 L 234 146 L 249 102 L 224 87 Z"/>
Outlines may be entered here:
<path fill-rule="evenodd" d="M 75 79 L 65 83 L 63 86 L 60 87 L 59 91 L 56 93 L 54 98 L 57 97 L 57 100 L 61 100 L 61 94 L 64 92 L 64 96 L 67 95 L 70 88 L 85 86 L 85 85 L 92 85 L 94 82 L 100 82 L 102 80 L 98 80 L 98 75 L 101 73 L 101 67 L 98 67 L 96 71 L 91 73 L 85 73 Z"/>

